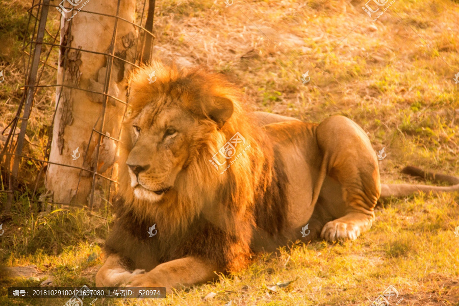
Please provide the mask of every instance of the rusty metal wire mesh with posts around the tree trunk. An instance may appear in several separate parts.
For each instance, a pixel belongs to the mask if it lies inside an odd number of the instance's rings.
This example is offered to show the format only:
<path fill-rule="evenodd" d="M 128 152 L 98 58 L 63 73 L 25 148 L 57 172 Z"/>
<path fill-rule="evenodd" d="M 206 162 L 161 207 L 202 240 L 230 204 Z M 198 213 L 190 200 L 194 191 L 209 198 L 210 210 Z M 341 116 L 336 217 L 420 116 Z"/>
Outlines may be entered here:
<path fill-rule="evenodd" d="M 70 0 L 67 1 L 72 4 Z M 119 142 L 121 129 L 119 130 L 118 135 L 113 135 L 113 137 L 103 132 L 104 123 L 106 121 L 107 103 L 109 99 L 111 99 L 111 101 L 115 101 L 117 104 L 120 104 L 122 106 L 123 112 L 122 118 L 124 118 L 124 114 L 127 109 L 127 103 L 125 100 L 118 98 L 109 92 L 109 83 L 110 79 L 112 78 L 113 62 L 114 60 L 116 60 L 122 63 L 129 64 L 132 67 L 139 67 L 141 63 L 149 61 L 150 50 L 152 42 L 154 40 L 154 35 L 151 33 L 151 31 L 153 24 L 155 1 L 137 1 L 137 18 L 135 22 L 129 21 L 120 16 L 120 5 L 121 0 L 118 0 L 115 15 L 87 11 L 83 9 L 78 10 L 78 13 L 86 13 L 92 14 L 94 16 L 105 16 L 109 18 L 114 18 L 113 29 L 106 29 L 107 31 L 111 31 L 110 48 L 108 50 L 89 50 L 71 47 L 70 39 L 67 39 L 67 41 L 65 41 L 65 39 L 59 40 L 60 35 L 62 35 L 61 30 L 63 28 L 55 28 L 56 20 L 61 20 L 61 10 L 55 4 L 50 4 L 50 0 L 33 0 L 32 5 L 28 10 L 29 20 L 27 24 L 27 32 L 24 35 L 24 42 L 22 47 L 24 52 L 24 92 L 21 101 L 18 105 L 16 115 L 2 132 L 5 133 L 5 131 L 9 128 L 9 133 L 6 138 L 5 145 L 2 151 L 0 152 L 0 173 L 2 175 L 1 192 L 7 194 L 4 215 L 8 215 L 10 213 L 12 202 L 15 199 L 15 195 L 17 196 L 16 191 L 18 190 L 21 180 L 23 179 L 23 177 L 21 177 L 20 175 L 20 170 L 24 167 L 24 165 L 27 165 L 28 162 L 33 162 L 38 166 L 38 174 L 35 177 L 33 183 L 33 192 L 32 196 L 30 197 L 30 202 L 33 203 L 33 206 L 37 207 L 37 205 L 39 205 L 39 202 L 42 202 L 42 209 L 44 208 L 45 203 L 52 206 L 81 206 L 81 203 L 56 202 L 53 200 L 47 200 L 46 197 L 37 198 L 37 186 L 39 185 L 39 182 L 42 180 L 42 175 L 46 172 L 47 166 L 51 164 L 60 167 L 76 168 L 80 170 L 79 183 L 76 191 L 77 194 L 79 192 L 78 188 L 80 187 L 82 175 L 92 175 L 92 190 L 90 193 L 90 200 L 88 201 L 90 209 L 92 209 L 94 205 L 94 193 L 96 189 L 97 179 L 105 181 L 104 184 L 99 185 L 101 185 L 101 188 L 104 189 L 102 192 L 102 194 L 104 195 L 103 200 L 110 201 L 113 192 L 113 185 L 117 184 L 116 179 L 114 177 L 115 171 L 113 167 L 111 167 L 109 171 L 106 171 L 107 173 L 110 173 L 110 175 L 104 175 L 98 172 L 97 165 L 99 164 L 99 154 L 102 137 L 107 137 L 107 139 L 111 139 L 112 141 L 117 143 Z M 59 12 L 54 10 L 54 7 L 57 8 Z M 124 24 L 132 24 L 138 31 L 137 41 L 135 43 L 135 56 L 134 60 L 132 61 L 117 56 L 114 52 L 115 43 L 117 42 L 117 39 L 119 39 L 116 35 L 120 27 L 118 22 L 119 20 L 122 20 Z M 69 21 L 68 19 L 67 21 L 62 19 L 61 22 L 62 21 L 69 22 L 68 35 L 70 36 L 72 33 L 73 19 L 69 18 Z M 55 32 L 54 35 L 52 34 L 53 32 Z M 87 88 L 82 88 L 80 86 L 69 86 L 68 84 L 64 84 L 63 81 L 66 77 L 65 73 L 67 71 L 66 65 L 68 65 L 69 63 L 68 57 L 71 50 L 78 50 L 78 52 L 80 53 L 98 54 L 105 56 L 107 58 L 103 90 L 90 90 Z M 61 56 L 59 56 L 59 61 L 61 61 L 64 65 L 61 82 L 56 82 L 56 84 L 41 84 L 44 74 L 56 74 L 56 70 L 58 70 L 58 68 L 53 66 L 52 63 L 50 63 L 50 58 L 56 57 L 56 54 L 58 54 L 59 51 L 61 52 Z M 49 130 L 47 133 L 48 135 L 46 145 L 41 156 L 38 156 L 37 158 L 37 156 L 29 154 L 29 152 L 24 152 L 24 144 L 27 142 L 26 131 L 28 127 L 28 122 L 30 120 L 31 112 L 34 107 L 34 99 L 37 96 L 37 91 L 40 90 L 40 94 L 43 94 L 44 91 L 54 90 L 54 92 L 57 95 L 56 107 L 54 110 L 54 114 L 52 116 L 52 120 L 50 122 L 50 126 L 52 129 L 52 126 L 55 123 L 56 113 L 59 108 L 59 104 L 61 103 L 60 93 L 62 92 L 63 88 L 84 91 L 90 94 L 100 95 L 102 97 L 102 109 L 100 116 L 97 118 L 96 124 L 94 124 L 92 128 L 90 137 L 87 140 L 88 145 L 86 146 L 85 152 L 83 152 L 82 154 L 83 160 L 85 161 L 88 158 L 89 143 L 91 141 L 94 141 L 95 139 L 96 166 L 94 167 L 94 169 L 85 167 L 85 163 L 83 163 L 82 166 L 74 166 L 50 161 L 49 157 L 50 147 L 52 144 L 52 137 L 49 133 Z M 129 87 L 127 91 L 129 92 Z"/>

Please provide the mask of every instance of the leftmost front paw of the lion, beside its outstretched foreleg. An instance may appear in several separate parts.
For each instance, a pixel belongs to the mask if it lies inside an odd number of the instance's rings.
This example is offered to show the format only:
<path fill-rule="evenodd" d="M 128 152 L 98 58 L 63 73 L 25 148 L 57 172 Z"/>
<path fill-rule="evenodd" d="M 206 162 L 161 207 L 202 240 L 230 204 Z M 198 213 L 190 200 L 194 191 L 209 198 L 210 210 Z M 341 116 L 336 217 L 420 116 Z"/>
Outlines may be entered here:
<path fill-rule="evenodd" d="M 97 271 L 96 287 L 116 287 L 129 284 L 133 276 L 145 273 L 145 270 L 127 270 L 118 255 L 111 254 L 104 265 Z"/>

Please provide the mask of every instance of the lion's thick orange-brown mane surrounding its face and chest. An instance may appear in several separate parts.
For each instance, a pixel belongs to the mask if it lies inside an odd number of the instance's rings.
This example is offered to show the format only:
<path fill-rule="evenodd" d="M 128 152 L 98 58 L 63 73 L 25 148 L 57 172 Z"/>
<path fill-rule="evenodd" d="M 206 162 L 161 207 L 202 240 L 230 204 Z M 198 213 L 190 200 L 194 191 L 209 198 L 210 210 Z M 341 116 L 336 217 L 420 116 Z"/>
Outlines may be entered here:
<path fill-rule="evenodd" d="M 155 71 L 156 81 L 149 84 L 148 75 Z M 242 104 L 239 90 L 224 75 L 203 68 L 179 70 L 155 61 L 131 75 L 128 96 L 129 112 L 123 131 L 130 131 L 132 119 L 155 97 L 181 93 L 182 107 L 194 113 L 205 110 L 199 101 L 212 96 L 233 101 L 234 112 L 219 128 L 212 118 L 202 119 L 199 141 L 193 139 L 190 160 L 177 175 L 174 192 L 158 203 L 134 197 L 125 164 L 132 149 L 131 134 L 124 133 L 119 158 L 119 191 L 115 201 L 115 229 L 107 248 L 139 247 L 121 243 L 119 235 L 129 233 L 135 243 L 143 240 L 146 229 L 158 223 L 155 246 L 160 262 L 199 254 L 216 260 L 225 271 L 236 271 L 247 265 L 253 228 L 278 233 L 285 223 L 286 183 L 282 165 L 274 159 L 276 148 L 263 127 L 252 122 Z M 156 111 L 160 112 L 158 108 Z M 224 173 L 209 162 L 218 149 L 239 132 L 249 145 L 237 162 Z M 237 154 L 239 151 L 237 151 Z M 197 236 L 197 237 L 195 237 Z M 127 238 L 125 238 L 127 239 Z"/>

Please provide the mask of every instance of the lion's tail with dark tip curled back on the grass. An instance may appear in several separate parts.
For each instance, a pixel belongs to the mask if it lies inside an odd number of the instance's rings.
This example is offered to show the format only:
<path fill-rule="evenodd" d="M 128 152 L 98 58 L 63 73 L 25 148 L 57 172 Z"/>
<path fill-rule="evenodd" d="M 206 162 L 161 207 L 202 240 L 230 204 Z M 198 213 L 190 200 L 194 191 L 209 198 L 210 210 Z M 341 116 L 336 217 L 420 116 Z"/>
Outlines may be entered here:
<path fill-rule="evenodd" d="M 431 180 L 436 183 L 446 182 L 452 186 L 440 187 L 430 185 L 417 185 L 417 184 L 381 184 L 381 196 L 380 197 L 403 197 L 411 195 L 418 191 L 423 192 L 453 192 L 459 191 L 459 177 L 447 175 L 447 174 L 436 174 L 431 172 L 425 172 L 419 168 L 408 166 L 402 170 L 402 173 L 410 174 L 413 176 L 422 177 L 423 179 Z"/>

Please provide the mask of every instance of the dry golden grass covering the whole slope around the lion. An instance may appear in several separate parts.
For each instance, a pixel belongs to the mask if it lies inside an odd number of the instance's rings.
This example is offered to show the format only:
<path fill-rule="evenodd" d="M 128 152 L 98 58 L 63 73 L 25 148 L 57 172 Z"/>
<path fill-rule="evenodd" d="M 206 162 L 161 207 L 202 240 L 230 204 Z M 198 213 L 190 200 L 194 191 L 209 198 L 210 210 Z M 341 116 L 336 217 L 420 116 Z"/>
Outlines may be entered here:
<path fill-rule="evenodd" d="M 225 8 L 169 0 L 157 5 L 158 56 L 178 51 L 179 63 L 226 73 L 243 88 L 253 109 L 310 121 L 333 114 L 352 118 L 368 132 L 375 150 L 386 147 L 388 156 L 380 162 L 385 182 L 408 180 L 398 174 L 408 163 L 459 175 L 459 85 L 452 81 L 459 72 L 457 2 L 398 0 L 375 23 L 356 1 L 235 0 Z M 17 65 L 17 55 L 2 55 L 2 61 Z M 299 78 L 308 70 L 311 81 L 303 85 Z M 9 84 L 0 87 L 0 94 L 13 97 L 9 104 L 14 105 L 20 95 Z M 14 107 L 2 107 L 6 122 Z M 32 141 L 38 139 L 33 136 L 40 122 L 32 128 Z M 319 241 L 256 256 L 249 269 L 232 278 L 161 301 L 96 304 L 368 305 L 393 285 L 403 297 L 401 305 L 457 305 L 457 199 L 457 194 L 392 199 L 376 211 L 370 232 L 356 241 Z M 5 223 L 9 230 L 0 238 L 8 266 L 35 264 L 54 277 L 55 286 L 94 285 L 103 262 L 99 238 L 105 237 L 110 218 L 105 222 L 86 212 L 30 217 L 27 195 L 15 210 L 17 216 Z M 266 289 L 296 277 L 279 292 Z M 34 284 L 22 280 L 0 287 Z M 209 292 L 217 296 L 203 300 Z M 2 305 L 64 302 L 0 297 Z"/>

